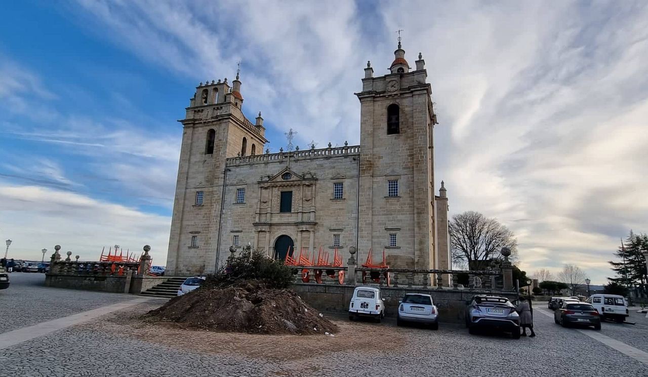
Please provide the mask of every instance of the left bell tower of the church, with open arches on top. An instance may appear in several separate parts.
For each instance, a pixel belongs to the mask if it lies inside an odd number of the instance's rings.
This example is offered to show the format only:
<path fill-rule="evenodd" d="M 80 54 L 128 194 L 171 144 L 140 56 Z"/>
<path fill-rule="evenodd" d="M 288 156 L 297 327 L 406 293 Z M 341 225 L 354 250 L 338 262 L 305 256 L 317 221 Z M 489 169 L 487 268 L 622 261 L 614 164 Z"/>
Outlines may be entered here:
<path fill-rule="evenodd" d="M 167 254 L 168 274 L 213 273 L 219 247 L 220 213 L 227 158 L 262 154 L 263 118 L 255 123 L 242 112 L 239 72 L 202 82 L 189 101 L 183 125 L 176 197 Z"/>

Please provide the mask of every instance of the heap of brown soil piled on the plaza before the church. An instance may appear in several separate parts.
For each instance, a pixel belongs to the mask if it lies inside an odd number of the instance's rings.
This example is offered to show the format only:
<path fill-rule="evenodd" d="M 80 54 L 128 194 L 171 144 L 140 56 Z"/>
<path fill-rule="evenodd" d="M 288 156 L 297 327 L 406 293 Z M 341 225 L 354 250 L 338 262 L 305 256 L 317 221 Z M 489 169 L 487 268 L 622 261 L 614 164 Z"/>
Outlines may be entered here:
<path fill-rule="evenodd" d="M 201 287 L 148 312 L 148 319 L 183 328 L 257 334 L 333 334 L 335 324 L 290 289 L 246 283 L 226 288 Z"/>

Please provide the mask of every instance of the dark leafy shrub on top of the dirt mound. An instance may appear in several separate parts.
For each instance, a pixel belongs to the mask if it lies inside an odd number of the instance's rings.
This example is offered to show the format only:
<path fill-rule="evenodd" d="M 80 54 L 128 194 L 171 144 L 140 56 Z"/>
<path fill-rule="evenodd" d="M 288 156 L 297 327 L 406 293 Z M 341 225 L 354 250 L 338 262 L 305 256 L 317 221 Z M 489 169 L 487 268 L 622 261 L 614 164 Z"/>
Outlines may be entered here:
<path fill-rule="evenodd" d="M 229 287 L 255 281 L 268 288 L 283 289 L 294 281 L 292 269 L 283 261 L 268 258 L 261 250 L 243 249 L 238 256 L 231 255 L 216 274 L 207 276 L 203 287 Z"/>

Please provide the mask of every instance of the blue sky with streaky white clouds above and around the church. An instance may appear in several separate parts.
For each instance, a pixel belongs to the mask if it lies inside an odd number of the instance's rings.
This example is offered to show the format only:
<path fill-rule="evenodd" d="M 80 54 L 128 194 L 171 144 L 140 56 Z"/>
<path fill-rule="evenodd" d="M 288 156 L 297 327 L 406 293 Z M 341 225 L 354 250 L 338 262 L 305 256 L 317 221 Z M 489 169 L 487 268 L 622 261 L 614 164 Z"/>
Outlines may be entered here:
<path fill-rule="evenodd" d="M 495 217 L 521 267 L 592 284 L 648 232 L 645 1 L 14 1 L 0 13 L 0 238 L 38 260 L 119 244 L 165 263 L 184 108 L 240 61 L 270 151 L 356 145 L 364 67 L 398 29 L 432 84 L 450 215 Z"/>

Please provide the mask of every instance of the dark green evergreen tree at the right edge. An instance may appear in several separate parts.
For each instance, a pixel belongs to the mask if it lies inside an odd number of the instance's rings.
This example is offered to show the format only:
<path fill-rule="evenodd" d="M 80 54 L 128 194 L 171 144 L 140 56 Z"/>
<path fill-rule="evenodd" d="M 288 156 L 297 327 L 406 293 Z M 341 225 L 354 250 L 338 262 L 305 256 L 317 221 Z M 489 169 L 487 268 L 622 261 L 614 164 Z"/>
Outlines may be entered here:
<path fill-rule="evenodd" d="M 624 287 L 634 287 L 638 284 L 645 291 L 648 275 L 643 250 L 648 250 L 648 235 L 634 234 L 631 230 L 622 246 L 619 246 L 619 249 L 614 253 L 618 261 L 609 262 L 616 277 L 608 278 L 608 280 Z"/>

